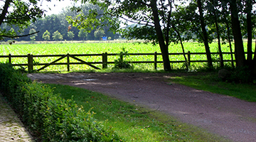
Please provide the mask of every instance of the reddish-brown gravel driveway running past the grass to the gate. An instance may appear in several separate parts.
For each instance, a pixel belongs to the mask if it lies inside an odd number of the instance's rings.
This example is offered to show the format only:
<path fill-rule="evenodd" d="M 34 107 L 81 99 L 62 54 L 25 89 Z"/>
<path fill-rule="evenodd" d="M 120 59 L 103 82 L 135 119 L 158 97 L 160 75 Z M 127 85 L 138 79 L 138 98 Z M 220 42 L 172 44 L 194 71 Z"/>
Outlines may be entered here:
<path fill-rule="evenodd" d="M 231 141 L 256 141 L 256 103 L 171 82 L 173 73 L 28 74 L 43 83 L 67 84 L 157 109 Z"/>

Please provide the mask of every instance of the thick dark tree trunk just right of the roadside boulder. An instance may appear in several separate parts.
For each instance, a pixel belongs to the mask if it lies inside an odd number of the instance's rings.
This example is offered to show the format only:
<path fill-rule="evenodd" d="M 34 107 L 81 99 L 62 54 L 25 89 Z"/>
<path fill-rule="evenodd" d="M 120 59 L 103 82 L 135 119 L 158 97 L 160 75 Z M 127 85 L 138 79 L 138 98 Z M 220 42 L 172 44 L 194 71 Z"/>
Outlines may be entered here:
<path fill-rule="evenodd" d="M 232 31 L 235 40 L 235 62 L 237 67 L 245 66 L 245 50 L 242 44 L 242 33 L 238 18 L 237 0 L 230 2 Z"/>

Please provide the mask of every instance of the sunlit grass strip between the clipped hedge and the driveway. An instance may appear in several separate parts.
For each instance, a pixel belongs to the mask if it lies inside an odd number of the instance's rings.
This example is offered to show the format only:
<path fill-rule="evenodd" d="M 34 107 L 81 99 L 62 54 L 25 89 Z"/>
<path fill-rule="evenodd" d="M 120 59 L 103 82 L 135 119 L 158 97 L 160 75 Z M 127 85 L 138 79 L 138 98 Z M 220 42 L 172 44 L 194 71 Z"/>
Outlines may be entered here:
<path fill-rule="evenodd" d="M 166 114 L 140 105 L 122 102 L 98 92 L 48 84 L 64 99 L 73 99 L 85 110 L 92 109 L 94 118 L 114 129 L 124 141 L 228 141 L 188 124 L 182 124 Z"/>

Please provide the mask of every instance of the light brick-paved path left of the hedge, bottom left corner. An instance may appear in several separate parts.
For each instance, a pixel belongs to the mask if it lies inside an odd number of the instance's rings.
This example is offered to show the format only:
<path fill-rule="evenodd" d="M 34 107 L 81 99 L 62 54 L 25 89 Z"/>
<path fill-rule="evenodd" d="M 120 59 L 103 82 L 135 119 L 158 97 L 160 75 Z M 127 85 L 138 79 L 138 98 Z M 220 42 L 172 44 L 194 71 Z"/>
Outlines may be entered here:
<path fill-rule="evenodd" d="M 33 141 L 13 109 L 0 93 L 0 141 Z"/>

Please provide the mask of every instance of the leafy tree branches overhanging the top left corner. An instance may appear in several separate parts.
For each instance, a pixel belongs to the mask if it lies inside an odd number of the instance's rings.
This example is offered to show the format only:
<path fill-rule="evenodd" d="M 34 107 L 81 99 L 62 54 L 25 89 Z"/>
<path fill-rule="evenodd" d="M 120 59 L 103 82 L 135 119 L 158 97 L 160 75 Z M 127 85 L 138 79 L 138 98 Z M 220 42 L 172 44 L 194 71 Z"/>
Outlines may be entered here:
<path fill-rule="evenodd" d="M 38 1 L 6 0 L 1 8 L 0 26 L 7 23 L 9 26 L 18 26 L 20 30 L 29 26 L 31 21 L 43 16 L 43 10 L 38 7 Z M 37 32 L 34 32 L 37 33 Z M 18 35 L 16 32 L 0 29 L 0 40 L 4 38 L 18 38 L 34 33 Z"/>

